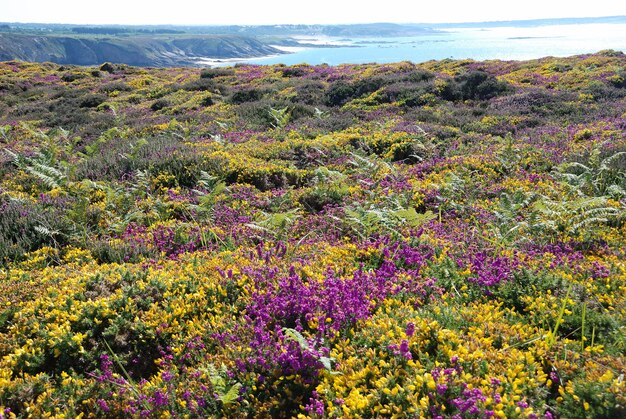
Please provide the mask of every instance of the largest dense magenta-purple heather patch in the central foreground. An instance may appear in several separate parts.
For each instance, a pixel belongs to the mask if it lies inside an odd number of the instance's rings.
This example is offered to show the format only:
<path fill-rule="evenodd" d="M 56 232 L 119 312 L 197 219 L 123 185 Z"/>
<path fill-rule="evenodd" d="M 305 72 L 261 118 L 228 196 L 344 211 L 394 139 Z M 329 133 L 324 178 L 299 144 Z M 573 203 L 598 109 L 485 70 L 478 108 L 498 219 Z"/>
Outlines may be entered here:
<path fill-rule="evenodd" d="M 284 245 L 279 243 L 270 249 L 262 244 L 257 246 L 250 258 L 260 263 L 244 269 L 254 282 L 248 290 L 252 303 L 244 316 L 252 328 L 252 352 L 246 362 L 239 364 L 240 368 L 262 374 L 278 369 L 284 375 L 300 374 L 304 379 L 313 379 L 324 367 L 320 359 L 329 353 L 324 342 L 343 328 L 368 318 L 378 302 L 389 295 L 403 292 L 421 301 L 430 292 L 426 289 L 435 288 L 433 281 L 420 276 L 431 253 L 408 245 L 388 244 L 385 239 L 369 248 L 380 252 L 375 268 L 367 270 L 361 266 L 347 275 L 338 275 L 329 268 L 323 278 L 311 279 L 294 265 L 286 275 L 272 267 L 274 258 L 285 256 Z M 224 278 L 232 276 L 232 272 L 219 271 Z M 304 338 L 306 342 L 295 342 L 285 335 L 285 328 L 309 337 Z M 414 328 L 407 326 L 408 333 L 412 334 Z M 389 349 L 406 359 L 413 357 L 407 340 Z"/>

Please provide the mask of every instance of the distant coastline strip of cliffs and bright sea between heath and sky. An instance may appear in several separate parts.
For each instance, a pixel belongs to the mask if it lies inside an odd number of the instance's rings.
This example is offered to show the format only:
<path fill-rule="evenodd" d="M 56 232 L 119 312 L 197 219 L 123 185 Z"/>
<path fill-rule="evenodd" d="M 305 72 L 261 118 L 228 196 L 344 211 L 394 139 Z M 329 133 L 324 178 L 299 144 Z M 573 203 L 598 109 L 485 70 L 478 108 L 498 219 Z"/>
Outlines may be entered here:
<path fill-rule="evenodd" d="M 626 34 L 626 16 L 446 24 L 198 27 L 0 23 L 0 61 L 204 67 L 240 62 L 531 59 L 603 49 L 624 51 L 626 36 L 620 37 L 620 33 Z"/>

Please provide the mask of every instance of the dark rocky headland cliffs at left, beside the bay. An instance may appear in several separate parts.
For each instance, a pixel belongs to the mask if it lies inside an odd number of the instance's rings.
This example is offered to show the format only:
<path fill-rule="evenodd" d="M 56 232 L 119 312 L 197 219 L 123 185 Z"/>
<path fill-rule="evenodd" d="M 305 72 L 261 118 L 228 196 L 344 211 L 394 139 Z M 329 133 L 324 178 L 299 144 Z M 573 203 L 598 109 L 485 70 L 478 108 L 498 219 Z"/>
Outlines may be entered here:
<path fill-rule="evenodd" d="M 234 35 L 103 38 L 0 34 L 0 61 L 173 67 L 196 65 L 198 58 L 250 58 L 279 53 L 252 37 Z"/>

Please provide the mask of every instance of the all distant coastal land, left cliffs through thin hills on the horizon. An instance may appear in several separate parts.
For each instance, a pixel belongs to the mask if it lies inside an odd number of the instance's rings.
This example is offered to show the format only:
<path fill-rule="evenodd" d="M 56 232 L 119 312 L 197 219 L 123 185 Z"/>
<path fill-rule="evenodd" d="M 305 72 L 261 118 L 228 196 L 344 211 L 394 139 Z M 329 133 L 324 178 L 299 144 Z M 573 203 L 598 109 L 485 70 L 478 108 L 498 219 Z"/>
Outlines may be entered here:
<path fill-rule="evenodd" d="M 537 27 L 626 23 L 626 16 L 470 23 L 350 25 L 72 25 L 0 22 L 0 61 L 50 61 L 142 67 L 206 65 L 202 59 L 244 59 L 280 54 L 282 47 L 315 47 L 304 37 L 428 36 L 450 28 Z M 328 47 L 328 46 L 326 46 Z"/>

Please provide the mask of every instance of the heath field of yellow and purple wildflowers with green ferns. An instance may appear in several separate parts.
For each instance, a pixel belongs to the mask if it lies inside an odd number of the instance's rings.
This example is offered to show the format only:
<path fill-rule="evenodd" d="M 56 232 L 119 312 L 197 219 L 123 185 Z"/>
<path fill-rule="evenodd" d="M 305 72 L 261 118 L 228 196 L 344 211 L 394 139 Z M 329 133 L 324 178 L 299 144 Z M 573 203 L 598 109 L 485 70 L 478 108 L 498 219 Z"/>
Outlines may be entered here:
<path fill-rule="evenodd" d="M 623 417 L 625 68 L 0 63 L 0 418 Z"/>

